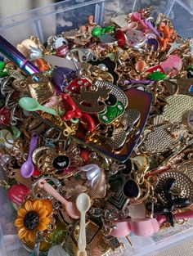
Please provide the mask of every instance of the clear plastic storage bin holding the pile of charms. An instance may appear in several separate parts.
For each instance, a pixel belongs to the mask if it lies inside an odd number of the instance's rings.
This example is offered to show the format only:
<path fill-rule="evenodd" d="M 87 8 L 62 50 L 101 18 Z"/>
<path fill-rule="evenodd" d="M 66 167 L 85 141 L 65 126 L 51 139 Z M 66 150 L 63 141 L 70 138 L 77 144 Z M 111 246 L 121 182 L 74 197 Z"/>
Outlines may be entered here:
<path fill-rule="evenodd" d="M 42 42 L 53 34 L 74 29 L 87 23 L 89 15 L 95 22 L 103 25 L 118 14 L 127 14 L 142 7 L 154 7 L 152 16 L 164 13 L 177 33 L 184 38 L 193 38 L 193 1 L 192 0 L 65 0 L 47 7 L 41 7 L 15 16 L 0 19 L 0 34 L 11 43 L 20 43 L 31 35 L 38 36 Z M 1 176 L 1 175 L 0 175 Z M 16 211 L 7 200 L 5 191 L 0 190 L 0 256 L 29 255 L 22 249 L 13 227 Z M 141 238 L 131 236 L 132 248 L 127 240 L 127 250 L 123 255 L 146 256 L 155 255 L 162 249 L 173 246 L 193 236 L 193 220 L 184 225 L 176 225 L 159 231 L 155 236 Z"/>

